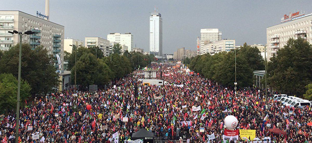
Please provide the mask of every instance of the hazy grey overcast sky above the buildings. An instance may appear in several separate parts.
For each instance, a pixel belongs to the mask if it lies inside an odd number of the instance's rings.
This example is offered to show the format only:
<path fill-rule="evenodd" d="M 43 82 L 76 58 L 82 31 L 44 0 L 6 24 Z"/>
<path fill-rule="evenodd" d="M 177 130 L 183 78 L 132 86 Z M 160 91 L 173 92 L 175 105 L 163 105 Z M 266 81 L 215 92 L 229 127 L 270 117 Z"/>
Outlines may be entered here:
<path fill-rule="evenodd" d="M 45 13 L 45 0 L 1 0 L 0 10 Z M 65 26 L 65 39 L 107 39 L 110 32 L 131 32 L 134 46 L 149 51 L 149 16 L 162 16 L 163 53 L 196 50 L 202 28 L 218 28 L 236 46 L 265 44 L 266 27 L 298 10 L 311 13 L 312 0 L 50 0 L 50 21 Z"/>

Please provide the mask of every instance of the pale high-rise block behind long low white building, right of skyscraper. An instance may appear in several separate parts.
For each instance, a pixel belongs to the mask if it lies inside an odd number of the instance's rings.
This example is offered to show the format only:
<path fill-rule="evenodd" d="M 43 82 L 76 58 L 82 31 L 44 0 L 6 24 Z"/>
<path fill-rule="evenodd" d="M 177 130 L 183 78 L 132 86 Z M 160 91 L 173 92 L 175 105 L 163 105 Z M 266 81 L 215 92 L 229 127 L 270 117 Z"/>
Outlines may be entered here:
<path fill-rule="evenodd" d="M 202 52 L 205 42 L 206 43 L 213 43 L 216 41 L 220 41 L 222 39 L 222 33 L 219 29 L 201 29 L 201 49 L 200 53 Z"/>

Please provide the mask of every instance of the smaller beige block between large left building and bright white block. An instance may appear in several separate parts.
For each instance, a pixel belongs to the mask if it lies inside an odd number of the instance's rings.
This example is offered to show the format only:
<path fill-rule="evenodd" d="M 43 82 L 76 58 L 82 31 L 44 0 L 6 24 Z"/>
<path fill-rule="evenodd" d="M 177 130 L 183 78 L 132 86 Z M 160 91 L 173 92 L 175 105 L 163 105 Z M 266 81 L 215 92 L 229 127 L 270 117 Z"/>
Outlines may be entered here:
<path fill-rule="evenodd" d="M 109 41 L 100 37 L 86 37 L 85 47 L 99 47 L 103 55 L 106 55 L 106 47 L 109 47 Z"/>

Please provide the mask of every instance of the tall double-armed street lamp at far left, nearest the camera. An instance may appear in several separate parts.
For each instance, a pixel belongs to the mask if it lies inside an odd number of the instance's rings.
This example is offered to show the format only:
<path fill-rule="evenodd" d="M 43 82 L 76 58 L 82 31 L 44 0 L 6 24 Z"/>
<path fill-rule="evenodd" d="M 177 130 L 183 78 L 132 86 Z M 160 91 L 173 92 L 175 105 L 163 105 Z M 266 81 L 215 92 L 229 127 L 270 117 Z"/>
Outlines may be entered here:
<path fill-rule="evenodd" d="M 20 100 L 20 89 L 21 89 L 21 62 L 22 62 L 22 36 L 24 34 L 31 35 L 35 32 L 26 31 L 18 32 L 16 30 L 8 31 L 11 34 L 18 34 L 19 35 L 19 55 L 18 55 L 18 83 L 17 83 L 17 106 L 16 106 L 16 135 L 15 135 L 15 143 L 18 143 L 18 128 L 19 128 L 19 100 Z"/>

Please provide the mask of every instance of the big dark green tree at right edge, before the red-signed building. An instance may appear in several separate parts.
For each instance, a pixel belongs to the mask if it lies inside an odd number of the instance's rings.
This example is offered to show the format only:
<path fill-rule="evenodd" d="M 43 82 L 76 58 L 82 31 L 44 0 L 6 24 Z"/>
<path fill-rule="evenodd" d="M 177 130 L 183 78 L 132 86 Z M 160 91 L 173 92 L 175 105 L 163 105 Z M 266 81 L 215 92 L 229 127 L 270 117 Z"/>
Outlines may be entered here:
<path fill-rule="evenodd" d="M 302 96 L 312 82 L 312 46 L 304 39 L 289 39 L 268 63 L 268 82 L 274 90 Z"/>

